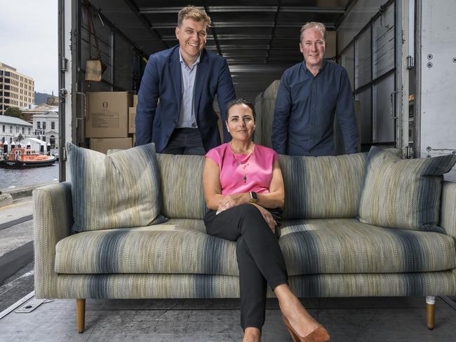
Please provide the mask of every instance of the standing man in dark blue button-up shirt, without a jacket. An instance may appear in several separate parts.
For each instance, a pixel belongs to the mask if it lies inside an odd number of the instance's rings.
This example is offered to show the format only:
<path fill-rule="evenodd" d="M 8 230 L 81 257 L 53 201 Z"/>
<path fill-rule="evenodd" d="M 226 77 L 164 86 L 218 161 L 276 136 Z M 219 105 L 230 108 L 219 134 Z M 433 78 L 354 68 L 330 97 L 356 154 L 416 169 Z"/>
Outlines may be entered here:
<path fill-rule="evenodd" d="M 304 61 L 281 78 L 274 108 L 272 146 L 291 156 L 333 156 L 337 114 L 347 153 L 358 151 L 353 95 L 344 67 L 323 58 L 326 28 L 308 22 L 301 29 Z"/>

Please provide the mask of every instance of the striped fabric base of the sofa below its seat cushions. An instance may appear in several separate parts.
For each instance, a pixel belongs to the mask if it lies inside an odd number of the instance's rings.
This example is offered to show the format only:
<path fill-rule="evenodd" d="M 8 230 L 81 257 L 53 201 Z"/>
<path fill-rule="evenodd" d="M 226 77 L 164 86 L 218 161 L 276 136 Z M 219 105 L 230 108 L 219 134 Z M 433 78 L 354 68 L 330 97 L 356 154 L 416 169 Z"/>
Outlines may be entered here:
<path fill-rule="evenodd" d="M 454 296 L 452 271 L 299 275 L 288 279 L 298 297 Z M 37 298 L 239 298 L 239 277 L 201 274 L 59 274 L 55 290 Z M 268 297 L 273 297 L 268 288 Z"/>

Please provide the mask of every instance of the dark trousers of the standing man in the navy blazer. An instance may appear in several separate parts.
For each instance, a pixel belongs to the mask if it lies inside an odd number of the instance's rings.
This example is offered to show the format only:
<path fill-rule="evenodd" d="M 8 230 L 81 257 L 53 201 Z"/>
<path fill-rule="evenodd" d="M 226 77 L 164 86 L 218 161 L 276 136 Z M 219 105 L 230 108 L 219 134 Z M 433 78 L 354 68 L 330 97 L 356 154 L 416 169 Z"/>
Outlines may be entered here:
<path fill-rule="evenodd" d="M 204 156 L 206 150 L 198 128 L 176 128 L 161 153 Z"/>

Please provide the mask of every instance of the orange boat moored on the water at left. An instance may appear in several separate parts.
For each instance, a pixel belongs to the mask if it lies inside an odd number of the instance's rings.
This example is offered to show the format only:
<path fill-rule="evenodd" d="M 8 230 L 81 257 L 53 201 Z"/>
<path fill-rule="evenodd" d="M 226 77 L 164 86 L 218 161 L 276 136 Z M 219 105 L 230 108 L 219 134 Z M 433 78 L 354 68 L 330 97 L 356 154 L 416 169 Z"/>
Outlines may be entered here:
<path fill-rule="evenodd" d="M 49 166 L 55 163 L 55 156 L 48 156 L 43 153 L 36 153 L 32 149 L 14 148 L 10 153 L 4 153 L 4 159 L 0 161 L 0 167 L 22 168 Z"/>

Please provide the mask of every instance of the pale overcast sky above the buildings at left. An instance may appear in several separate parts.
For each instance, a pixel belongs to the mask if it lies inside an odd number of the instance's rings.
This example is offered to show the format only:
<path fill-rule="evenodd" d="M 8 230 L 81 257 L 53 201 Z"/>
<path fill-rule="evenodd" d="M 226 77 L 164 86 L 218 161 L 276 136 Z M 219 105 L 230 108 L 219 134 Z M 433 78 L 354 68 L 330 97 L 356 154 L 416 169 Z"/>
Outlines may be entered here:
<path fill-rule="evenodd" d="M 0 0 L 0 62 L 58 94 L 58 1 Z"/>

